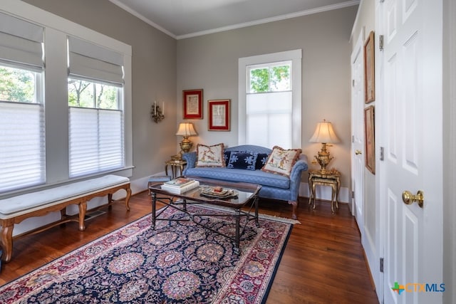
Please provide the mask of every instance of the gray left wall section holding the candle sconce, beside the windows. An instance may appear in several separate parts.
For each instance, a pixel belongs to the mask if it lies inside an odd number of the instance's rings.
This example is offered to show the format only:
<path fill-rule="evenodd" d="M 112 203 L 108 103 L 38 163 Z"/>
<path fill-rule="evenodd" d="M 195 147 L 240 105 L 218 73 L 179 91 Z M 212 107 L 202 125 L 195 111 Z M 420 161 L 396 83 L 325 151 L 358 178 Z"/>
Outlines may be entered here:
<path fill-rule="evenodd" d="M 26 0 L 132 46 L 133 177 L 162 172 L 175 154 L 176 45 L 174 38 L 140 21 L 108 0 Z M 166 118 L 150 119 L 154 100 L 165 102 Z M 146 184 L 144 184 L 144 189 Z"/>

